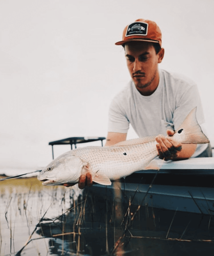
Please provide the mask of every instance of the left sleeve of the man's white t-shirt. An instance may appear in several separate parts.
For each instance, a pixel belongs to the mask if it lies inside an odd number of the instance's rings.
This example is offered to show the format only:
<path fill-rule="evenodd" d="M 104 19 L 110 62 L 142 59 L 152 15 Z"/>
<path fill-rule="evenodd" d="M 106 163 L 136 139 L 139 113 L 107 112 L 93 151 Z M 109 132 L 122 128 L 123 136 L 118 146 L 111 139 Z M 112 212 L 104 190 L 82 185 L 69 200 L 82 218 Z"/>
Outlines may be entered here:
<path fill-rule="evenodd" d="M 108 113 L 108 132 L 127 133 L 129 130 L 129 120 L 125 110 L 116 101 L 116 97 L 112 100 Z"/>

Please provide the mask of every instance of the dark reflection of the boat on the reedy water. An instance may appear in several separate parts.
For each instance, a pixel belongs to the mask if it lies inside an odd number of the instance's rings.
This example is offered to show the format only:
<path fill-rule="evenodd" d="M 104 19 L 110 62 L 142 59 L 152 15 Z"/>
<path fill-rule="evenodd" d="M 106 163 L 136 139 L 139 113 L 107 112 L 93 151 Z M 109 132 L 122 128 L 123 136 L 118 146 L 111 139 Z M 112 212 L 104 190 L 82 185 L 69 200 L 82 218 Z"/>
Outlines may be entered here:
<path fill-rule="evenodd" d="M 51 255 L 201 255 L 213 252 L 212 216 L 120 204 L 86 190 L 57 220 L 40 223 Z M 136 212 L 136 214 L 135 214 Z M 134 218 L 133 218 L 134 217 Z"/>

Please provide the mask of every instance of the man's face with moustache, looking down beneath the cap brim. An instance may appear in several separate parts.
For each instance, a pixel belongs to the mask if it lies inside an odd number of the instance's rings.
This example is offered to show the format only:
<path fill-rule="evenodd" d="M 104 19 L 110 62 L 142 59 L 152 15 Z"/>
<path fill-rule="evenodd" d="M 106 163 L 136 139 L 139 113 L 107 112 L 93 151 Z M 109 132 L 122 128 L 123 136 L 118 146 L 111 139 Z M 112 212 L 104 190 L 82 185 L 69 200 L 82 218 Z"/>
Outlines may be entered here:
<path fill-rule="evenodd" d="M 125 45 L 125 55 L 129 73 L 139 92 L 147 95 L 154 92 L 159 83 L 158 63 L 162 61 L 164 50 L 158 54 L 150 42 L 129 42 Z M 149 94 L 148 94 L 149 95 Z"/>

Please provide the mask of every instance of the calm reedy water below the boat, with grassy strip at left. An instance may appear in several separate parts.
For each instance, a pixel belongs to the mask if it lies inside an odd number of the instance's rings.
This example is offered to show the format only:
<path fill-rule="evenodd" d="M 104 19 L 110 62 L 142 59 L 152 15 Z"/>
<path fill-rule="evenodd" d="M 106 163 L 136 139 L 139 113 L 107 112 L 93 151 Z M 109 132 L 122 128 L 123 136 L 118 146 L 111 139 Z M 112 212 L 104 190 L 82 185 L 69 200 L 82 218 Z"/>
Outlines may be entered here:
<path fill-rule="evenodd" d="M 0 191 L 0 255 L 213 255 L 212 216 L 128 207 L 35 178 Z"/>

